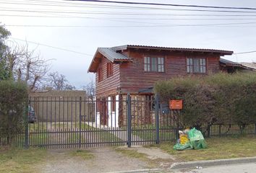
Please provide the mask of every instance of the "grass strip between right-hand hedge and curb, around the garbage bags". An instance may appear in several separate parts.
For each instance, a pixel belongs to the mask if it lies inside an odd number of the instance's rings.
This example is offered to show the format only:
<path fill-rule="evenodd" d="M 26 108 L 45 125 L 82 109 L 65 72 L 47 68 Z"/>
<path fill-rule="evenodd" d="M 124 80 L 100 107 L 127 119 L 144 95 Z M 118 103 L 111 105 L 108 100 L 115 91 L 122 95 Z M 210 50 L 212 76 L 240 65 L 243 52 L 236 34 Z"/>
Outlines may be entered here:
<path fill-rule="evenodd" d="M 212 159 L 232 159 L 256 156 L 256 138 L 208 138 L 208 148 L 202 150 L 175 151 L 174 143 L 157 145 L 163 151 L 176 157 L 179 161 L 198 161 Z"/>

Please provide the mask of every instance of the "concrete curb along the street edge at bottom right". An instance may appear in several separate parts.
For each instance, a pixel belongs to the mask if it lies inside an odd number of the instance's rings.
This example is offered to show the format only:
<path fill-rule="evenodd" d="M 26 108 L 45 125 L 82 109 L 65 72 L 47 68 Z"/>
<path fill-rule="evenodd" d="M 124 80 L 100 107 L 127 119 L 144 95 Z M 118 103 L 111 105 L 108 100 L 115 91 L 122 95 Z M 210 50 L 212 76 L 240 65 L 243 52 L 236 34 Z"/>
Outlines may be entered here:
<path fill-rule="evenodd" d="M 187 161 L 171 164 L 171 167 L 169 167 L 169 169 L 195 169 L 196 167 L 213 167 L 227 164 L 247 164 L 254 162 L 256 163 L 256 156 L 236 159 L 218 159 L 210 161 Z"/>

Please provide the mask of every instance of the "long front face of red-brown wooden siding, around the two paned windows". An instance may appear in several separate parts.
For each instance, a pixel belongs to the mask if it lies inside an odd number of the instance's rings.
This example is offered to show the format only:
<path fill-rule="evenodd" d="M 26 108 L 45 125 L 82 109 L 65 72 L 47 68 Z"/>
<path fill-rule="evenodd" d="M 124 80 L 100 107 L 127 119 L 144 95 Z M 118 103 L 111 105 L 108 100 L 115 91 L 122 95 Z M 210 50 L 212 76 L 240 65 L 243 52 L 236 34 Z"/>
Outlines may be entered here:
<path fill-rule="evenodd" d="M 164 73 L 145 72 L 144 57 L 163 57 L 165 58 L 166 68 Z M 155 81 L 171 79 L 174 76 L 187 75 L 187 57 L 205 58 L 206 74 L 209 71 L 216 73 L 219 71 L 219 56 L 202 54 L 174 54 L 171 52 L 142 52 L 140 50 L 130 51 L 129 57 L 131 63 L 122 63 L 120 65 L 121 92 L 137 93 L 139 89 L 149 88 L 155 84 Z M 193 74 L 197 75 L 197 74 Z M 202 74 L 198 74 L 202 75 Z"/>

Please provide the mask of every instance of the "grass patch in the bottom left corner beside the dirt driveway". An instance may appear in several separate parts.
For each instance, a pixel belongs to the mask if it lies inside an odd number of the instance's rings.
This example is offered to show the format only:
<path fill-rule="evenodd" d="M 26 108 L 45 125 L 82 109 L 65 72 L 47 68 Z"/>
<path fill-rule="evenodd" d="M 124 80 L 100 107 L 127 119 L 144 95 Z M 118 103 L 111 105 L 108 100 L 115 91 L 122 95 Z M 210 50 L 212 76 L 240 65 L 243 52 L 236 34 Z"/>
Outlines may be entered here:
<path fill-rule="evenodd" d="M 0 148 L 0 172 L 37 172 L 35 165 L 46 159 L 46 149 Z"/>

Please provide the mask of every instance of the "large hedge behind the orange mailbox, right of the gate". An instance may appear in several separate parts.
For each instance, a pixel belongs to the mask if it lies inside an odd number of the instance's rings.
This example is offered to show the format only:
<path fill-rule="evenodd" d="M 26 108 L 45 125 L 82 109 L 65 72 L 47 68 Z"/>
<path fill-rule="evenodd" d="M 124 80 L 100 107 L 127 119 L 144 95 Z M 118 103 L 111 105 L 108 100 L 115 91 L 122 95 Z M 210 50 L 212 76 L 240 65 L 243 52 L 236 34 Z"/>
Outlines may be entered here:
<path fill-rule="evenodd" d="M 183 123 L 256 123 L 256 74 L 186 76 L 158 81 L 161 102 L 183 99 Z"/>

